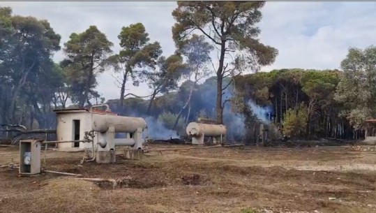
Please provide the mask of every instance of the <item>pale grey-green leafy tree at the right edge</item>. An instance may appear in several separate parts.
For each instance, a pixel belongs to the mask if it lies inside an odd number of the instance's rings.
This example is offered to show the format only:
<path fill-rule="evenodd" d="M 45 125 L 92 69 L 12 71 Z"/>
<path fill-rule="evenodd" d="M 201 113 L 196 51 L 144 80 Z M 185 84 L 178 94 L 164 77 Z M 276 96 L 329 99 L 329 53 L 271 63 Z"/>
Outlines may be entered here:
<path fill-rule="evenodd" d="M 337 87 L 336 100 L 343 103 L 345 116 L 359 129 L 366 119 L 376 117 L 376 47 L 364 50 L 350 48 L 341 62 L 342 78 Z"/>

